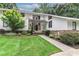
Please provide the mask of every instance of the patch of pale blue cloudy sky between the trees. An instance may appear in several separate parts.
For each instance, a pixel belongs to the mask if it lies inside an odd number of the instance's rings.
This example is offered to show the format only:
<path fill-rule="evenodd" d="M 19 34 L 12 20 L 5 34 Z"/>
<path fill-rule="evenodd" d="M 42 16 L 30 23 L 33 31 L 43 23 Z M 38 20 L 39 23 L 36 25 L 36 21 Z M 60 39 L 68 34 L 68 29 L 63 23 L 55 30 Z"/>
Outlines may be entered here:
<path fill-rule="evenodd" d="M 36 3 L 17 3 L 17 7 L 21 10 L 26 10 L 28 12 L 32 12 L 35 8 L 38 8 L 38 4 Z"/>

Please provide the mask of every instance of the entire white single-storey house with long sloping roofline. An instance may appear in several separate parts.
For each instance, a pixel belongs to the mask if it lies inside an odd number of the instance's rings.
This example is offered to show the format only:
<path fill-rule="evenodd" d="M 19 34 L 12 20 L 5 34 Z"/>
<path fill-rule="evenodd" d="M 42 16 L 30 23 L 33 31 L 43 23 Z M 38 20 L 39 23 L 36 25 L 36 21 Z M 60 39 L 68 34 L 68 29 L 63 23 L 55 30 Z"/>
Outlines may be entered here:
<path fill-rule="evenodd" d="M 0 16 L 6 9 L 0 9 Z M 51 14 L 20 11 L 25 20 L 25 27 L 22 30 L 30 30 L 33 26 L 34 31 L 44 30 L 79 30 L 79 19 L 56 16 Z M 6 24 L 0 20 L 0 29 L 10 30 Z"/>

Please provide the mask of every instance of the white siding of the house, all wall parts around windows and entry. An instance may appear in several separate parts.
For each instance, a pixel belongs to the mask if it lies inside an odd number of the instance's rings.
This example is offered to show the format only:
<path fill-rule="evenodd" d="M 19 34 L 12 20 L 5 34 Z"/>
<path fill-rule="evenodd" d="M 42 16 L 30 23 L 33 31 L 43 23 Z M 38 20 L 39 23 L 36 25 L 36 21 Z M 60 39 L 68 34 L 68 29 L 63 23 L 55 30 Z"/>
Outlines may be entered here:
<path fill-rule="evenodd" d="M 3 12 L 0 11 L 0 17 L 3 15 Z M 29 19 L 33 19 L 34 14 L 25 14 L 24 21 L 25 21 L 25 27 L 21 30 L 29 30 Z M 72 22 L 73 20 L 68 20 L 65 18 L 59 18 L 59 17 L 53 17 L 52 19 L 48 20 L 48 15 L 39 15 L 40 20 L 45 20 L 47 21 L 46 25 L 46 30 L 72 30 Z M 52 27 L 49 28 L 49 21 L 52 21 Z M 76 21 L 76 20 L 74 20 Z M 43 24 L 41 25 L 43 28 Z M 0 29 L 5 29 L 5 30 L 11 30 L 9 27 L 3 27 L 3 21 L 0 19 Z M 76 30 L 79 30 L 79 21 L 76 21 Z"/>

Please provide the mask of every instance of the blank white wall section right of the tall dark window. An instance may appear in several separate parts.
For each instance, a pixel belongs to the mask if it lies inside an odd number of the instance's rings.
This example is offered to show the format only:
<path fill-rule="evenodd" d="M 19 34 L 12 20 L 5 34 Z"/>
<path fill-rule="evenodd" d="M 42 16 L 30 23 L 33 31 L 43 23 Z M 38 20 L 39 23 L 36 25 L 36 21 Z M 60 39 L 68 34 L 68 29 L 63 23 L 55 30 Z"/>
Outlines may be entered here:
<path fill-rule="evenodd" d="M 53 18 L 52 28 L 48 28 L 48 30 L 67 30 L 67 21 L 61 18 Z"/>

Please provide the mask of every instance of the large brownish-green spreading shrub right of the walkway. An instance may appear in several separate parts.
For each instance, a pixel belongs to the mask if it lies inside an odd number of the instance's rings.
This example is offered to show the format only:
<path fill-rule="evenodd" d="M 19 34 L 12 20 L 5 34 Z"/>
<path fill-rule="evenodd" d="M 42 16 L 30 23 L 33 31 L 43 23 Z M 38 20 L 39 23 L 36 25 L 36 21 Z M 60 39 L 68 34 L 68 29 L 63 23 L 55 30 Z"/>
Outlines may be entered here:
<path fill-rule="evenodd" d="M 79 43 L 79 33 L 65 33 L 60 35 L 59 39 L 65 44 L 75 46 Z"/>

